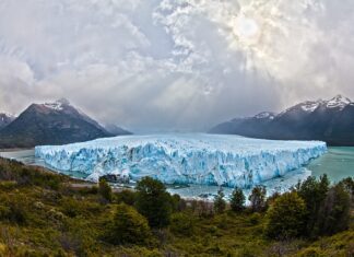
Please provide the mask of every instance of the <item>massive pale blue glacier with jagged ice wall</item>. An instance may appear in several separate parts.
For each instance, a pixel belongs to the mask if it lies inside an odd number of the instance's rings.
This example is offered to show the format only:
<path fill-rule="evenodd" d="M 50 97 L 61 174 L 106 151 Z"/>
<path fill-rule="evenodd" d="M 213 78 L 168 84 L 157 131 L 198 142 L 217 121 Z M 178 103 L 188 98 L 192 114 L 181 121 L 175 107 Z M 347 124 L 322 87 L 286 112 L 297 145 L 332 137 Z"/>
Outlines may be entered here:
<path fill-rule="evenodd" d="M 122 136 L 67 145 L 40 145 L 46 166 L 97 182 L 106 174 L 137 182 L 250 188 L 300 168 L 327 152 L 320 141 L 274 141 L 239 136 L 174 133 Z"/>

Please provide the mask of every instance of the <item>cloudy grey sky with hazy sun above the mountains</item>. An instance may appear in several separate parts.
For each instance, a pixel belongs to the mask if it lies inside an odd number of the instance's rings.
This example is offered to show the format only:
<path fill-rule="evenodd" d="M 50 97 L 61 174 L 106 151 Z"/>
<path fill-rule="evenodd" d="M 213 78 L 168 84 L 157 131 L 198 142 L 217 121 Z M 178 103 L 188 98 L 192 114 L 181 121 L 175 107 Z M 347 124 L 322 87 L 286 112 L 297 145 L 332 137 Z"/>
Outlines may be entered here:
<path fill-rule="evenodd" d="M 354 100 L 353 0 L 1 0 L 0 112 L 66 97 L 133 131 Z"/>

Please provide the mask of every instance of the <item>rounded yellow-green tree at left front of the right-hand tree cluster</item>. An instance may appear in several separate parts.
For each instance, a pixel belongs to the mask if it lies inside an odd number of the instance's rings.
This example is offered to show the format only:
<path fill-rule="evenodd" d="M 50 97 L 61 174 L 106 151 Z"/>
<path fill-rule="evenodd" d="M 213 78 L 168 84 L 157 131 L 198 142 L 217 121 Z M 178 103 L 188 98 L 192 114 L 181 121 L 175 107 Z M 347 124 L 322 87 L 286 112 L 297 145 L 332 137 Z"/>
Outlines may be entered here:
<path fill-rule="evenodd" d="M 266 234 L 275 240 L 287 240 L 304 233 L 306 203 L 296 191 L 278 197 L 267 213 Z"/>

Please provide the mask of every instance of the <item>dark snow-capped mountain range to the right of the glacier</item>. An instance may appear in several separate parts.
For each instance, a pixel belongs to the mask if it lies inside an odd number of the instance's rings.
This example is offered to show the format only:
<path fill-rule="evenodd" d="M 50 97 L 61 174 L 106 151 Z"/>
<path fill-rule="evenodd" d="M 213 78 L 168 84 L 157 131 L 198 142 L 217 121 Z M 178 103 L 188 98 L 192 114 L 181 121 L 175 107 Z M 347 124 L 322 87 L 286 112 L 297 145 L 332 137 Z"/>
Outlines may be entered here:
<path fill-rule="evenodd" d="M 354 103 L 341 95 L 329 101 L 307 101 L 278 115 L 261 113 L 255 117 L 233 119 L 209 132 L 354 145 Z"/>

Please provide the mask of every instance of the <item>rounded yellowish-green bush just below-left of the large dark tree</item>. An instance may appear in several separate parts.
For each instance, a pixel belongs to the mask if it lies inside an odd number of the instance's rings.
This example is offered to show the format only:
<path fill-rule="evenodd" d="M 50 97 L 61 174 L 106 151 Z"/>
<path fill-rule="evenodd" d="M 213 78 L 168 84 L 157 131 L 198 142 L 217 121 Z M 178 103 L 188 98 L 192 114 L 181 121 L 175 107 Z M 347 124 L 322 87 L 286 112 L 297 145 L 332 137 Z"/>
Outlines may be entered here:
<path fill-rule="evenodd" d="M 144 244 L 149 237 L 148 220 L 134 208 L 120 203 L 108 230 L 108 242 L 115 245 Z"/>

